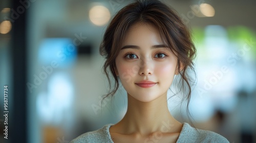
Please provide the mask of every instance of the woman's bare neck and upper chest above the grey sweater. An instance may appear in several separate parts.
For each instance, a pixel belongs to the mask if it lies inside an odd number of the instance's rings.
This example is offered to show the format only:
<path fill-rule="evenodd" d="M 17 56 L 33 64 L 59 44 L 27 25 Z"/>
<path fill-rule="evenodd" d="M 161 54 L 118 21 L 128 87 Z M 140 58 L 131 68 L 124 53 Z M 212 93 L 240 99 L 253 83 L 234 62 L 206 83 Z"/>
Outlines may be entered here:
<path fill-rule="evenodd" d="M 125 129 L 124 134 L 148 135 L 158 131 L 180 130 L 182 124 L 169 113 L 166 96 L 167 93 L 154 101 L 145 103 L 128 94 L 127 112 L 117 125 Z"/>

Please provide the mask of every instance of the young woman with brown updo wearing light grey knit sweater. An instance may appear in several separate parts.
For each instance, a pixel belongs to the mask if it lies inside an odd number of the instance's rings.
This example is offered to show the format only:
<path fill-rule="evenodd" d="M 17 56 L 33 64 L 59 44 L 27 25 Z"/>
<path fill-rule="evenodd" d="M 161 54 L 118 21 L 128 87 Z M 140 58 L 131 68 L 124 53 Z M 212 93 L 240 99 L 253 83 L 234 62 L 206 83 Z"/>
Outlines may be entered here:
<path fill-rule="evenodd" d="M 188 102 L 195 46 L 173 9 L 159 1 L 136 1 L 111 21 L 100 47 L 104 71 L 127 91 L 127 112 L 117 124 L 87 132 L 71 142 L 228 142 L 223 136 L 180 123 L 167 108 L 167 90 L 175 75 Z M 111 83 L 110 83 L 111 84 Z M 187 91 L 187 92 L 185 92 Z"/>

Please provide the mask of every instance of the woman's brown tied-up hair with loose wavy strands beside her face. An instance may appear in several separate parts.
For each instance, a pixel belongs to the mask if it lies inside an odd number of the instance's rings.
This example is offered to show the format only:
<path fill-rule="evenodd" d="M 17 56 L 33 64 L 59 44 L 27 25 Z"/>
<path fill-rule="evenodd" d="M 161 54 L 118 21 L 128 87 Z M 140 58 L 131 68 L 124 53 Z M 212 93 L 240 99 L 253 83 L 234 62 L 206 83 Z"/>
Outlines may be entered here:
<path fill-rule="evenodd" d="M 122 41 L 130 28 L 136 23 L 146 23 L 158 28 L 161 40 L 168 45 L 170 51 L 178 59 L 178 73 L 181 76 L 176 84 L 180 91 L 186 91 L 186 99 L 190 101 L 191 86 L 187 69 L 194 71 L 193 59 L 196 54 L 195 45 L 191 41 L 190 32 L 178 16 L 177 12 L 160 1 L 138 0 L 122 8 L 112 19 L 105 31 L 100 45 L 100 54 L 105 57 L 103 69 L 110 85 L 110 92 L 105 97 L 113 97 L 119 82 L 115 73 L 115 59 L 120 52 Z M 114 77 L 115 85 L 111 88 L 109 69 Z M 188 108 L 188 104 L 187 104 Z"/>

